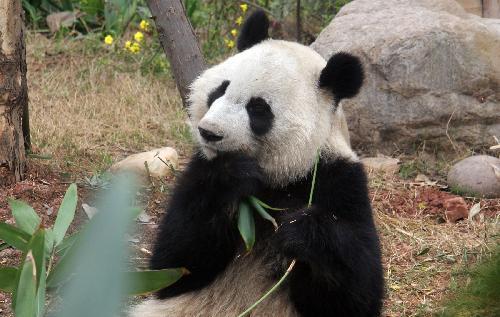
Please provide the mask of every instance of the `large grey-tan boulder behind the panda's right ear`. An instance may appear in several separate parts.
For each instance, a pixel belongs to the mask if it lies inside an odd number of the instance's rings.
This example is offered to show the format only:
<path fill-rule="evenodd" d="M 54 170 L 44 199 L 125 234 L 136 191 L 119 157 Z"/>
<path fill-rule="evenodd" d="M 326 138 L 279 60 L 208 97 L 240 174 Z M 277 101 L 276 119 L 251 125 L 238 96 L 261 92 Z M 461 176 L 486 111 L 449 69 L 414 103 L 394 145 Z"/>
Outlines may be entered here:
<path fill-rule="evenodd" d="M 312 48 L 364 62 L 363 89 L 344 101 L 358 149 L 480 148 L 500 135 L 500 20 L 453 0 L 356 0 Z"/>

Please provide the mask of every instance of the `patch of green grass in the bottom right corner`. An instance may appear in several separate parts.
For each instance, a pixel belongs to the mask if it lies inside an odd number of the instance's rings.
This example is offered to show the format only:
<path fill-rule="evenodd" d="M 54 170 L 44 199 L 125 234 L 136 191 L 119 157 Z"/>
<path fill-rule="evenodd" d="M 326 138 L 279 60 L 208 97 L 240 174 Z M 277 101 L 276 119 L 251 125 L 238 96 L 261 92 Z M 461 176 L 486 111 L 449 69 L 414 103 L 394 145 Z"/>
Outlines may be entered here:
<path fill-rule="evenodd" d="M 465 288 L 455 288 L 454 296 L 436 316 L 500 316 L 500 247 L 491 259 L 465 275 L 470 283 Z"/>

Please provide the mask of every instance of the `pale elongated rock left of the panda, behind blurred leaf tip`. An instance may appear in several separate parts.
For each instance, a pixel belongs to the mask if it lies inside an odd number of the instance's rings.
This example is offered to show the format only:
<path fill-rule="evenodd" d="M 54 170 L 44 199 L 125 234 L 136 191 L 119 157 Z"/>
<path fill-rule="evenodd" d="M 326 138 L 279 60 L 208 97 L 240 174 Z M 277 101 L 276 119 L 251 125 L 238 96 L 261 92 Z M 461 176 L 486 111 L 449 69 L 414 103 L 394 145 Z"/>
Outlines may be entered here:
<path fill-rule="evenodd" d="M 147 169 L 145 163 L 147 163 Z M 132 172 L 143 178 L 147 178 L 148 176 L 161 178 L 170 174 L 172 169 L 177 169 L 178 164 L 179 156 L 177 155 L 177 151 L 171 147 L 164 147 L 130 155 L 124 160 L 113 164 L 110 171 L 112 173 Z"/>

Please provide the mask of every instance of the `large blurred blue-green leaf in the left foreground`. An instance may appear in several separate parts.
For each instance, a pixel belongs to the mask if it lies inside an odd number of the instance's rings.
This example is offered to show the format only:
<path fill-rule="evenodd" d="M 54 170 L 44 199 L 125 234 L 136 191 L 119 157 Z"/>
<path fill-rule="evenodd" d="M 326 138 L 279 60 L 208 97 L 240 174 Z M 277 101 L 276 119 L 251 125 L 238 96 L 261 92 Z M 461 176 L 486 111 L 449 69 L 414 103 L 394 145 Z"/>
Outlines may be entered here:
<path fill-rule="evenodd" d="M 57 317 L 118 316 L 126 291 L 123 272 L 126 264 L 125 234 L 133 223 L 131 213 L 136 197 L 131 177 L 117 177 L 109 192 L 97 204 L 97 213 L 66 253 L 74 278 L 64 285 Z M 48 281 L 47 281 L 48 283 Z"/>

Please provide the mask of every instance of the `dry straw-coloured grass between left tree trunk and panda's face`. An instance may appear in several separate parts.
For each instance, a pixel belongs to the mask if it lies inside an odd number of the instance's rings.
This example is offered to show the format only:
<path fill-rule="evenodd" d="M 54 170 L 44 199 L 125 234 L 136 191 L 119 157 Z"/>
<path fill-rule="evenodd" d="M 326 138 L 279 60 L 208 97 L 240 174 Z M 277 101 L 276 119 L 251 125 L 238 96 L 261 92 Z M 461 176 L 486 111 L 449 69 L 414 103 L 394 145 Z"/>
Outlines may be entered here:
<path fill-rule="evenodd" d="M 124 154 L 189 148 L 186 115 L 168 76 L 130 71 L 98 42 L 28 36 L 34 152 L 58 168 L 102 170 Z"/>

